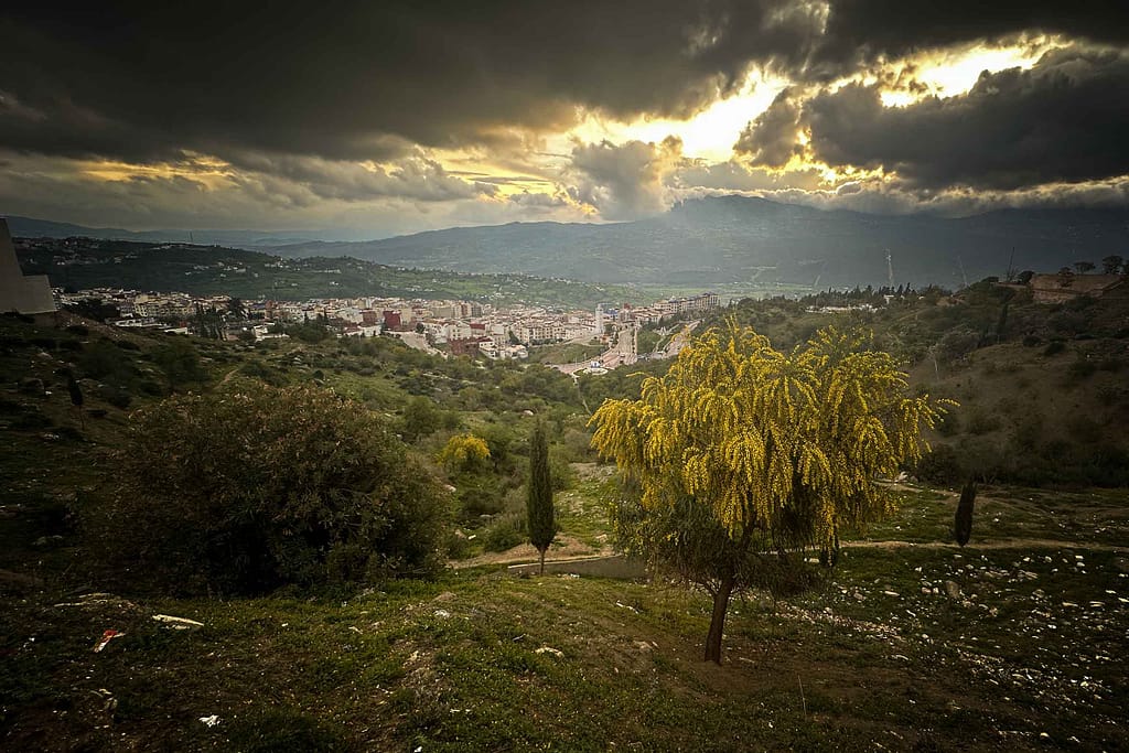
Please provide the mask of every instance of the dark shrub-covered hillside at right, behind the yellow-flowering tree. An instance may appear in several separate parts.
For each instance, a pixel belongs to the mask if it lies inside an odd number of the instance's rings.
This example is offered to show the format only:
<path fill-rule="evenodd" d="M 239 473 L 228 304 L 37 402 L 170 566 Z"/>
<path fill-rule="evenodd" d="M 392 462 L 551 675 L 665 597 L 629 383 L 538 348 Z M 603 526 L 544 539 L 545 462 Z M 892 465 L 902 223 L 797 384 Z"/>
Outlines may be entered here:
<path fill-rule="evenodd" d="M 855 309 L 828 314 L 815 306 Z M 895 295 L 889 305 L 878 292 L 857 291 L 745 300 L 732 314 L 779 348 L 829 321 L 870 327 L 913 384 L 959 403 L 929 436 L 934 453 L 919 473 L 931 482 L 1129 485 L 1124 296 L 1036 304 L 1030 291 L 984 280 L 953 296 Z"/>

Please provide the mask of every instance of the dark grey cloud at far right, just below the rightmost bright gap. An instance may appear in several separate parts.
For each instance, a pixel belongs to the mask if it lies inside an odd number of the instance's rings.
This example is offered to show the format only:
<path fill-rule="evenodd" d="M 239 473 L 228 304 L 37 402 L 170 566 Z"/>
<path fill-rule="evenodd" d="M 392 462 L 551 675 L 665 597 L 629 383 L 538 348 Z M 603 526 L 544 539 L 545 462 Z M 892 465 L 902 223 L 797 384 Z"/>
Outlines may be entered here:
<path fill-rule="evenodd" d="M 1129 55 L 1056 52 L 966 94 L 885 107 L 850 85 L 804 104 L 812 154 L 916 187 L 1016 189 L 1129 174 Z"/>

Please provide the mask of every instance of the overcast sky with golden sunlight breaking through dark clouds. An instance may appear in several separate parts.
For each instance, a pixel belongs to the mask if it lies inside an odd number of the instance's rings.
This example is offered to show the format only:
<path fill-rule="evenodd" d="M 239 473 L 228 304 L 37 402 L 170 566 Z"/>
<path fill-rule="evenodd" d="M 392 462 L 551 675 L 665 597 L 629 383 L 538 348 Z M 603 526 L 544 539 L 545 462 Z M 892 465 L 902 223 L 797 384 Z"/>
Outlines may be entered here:
<path fill-rule="evenodd" d="M 746 193 L 1129 205 L 1129 2 L 0 11 L 0 213 L 131 229 L 612 221 Z"/>

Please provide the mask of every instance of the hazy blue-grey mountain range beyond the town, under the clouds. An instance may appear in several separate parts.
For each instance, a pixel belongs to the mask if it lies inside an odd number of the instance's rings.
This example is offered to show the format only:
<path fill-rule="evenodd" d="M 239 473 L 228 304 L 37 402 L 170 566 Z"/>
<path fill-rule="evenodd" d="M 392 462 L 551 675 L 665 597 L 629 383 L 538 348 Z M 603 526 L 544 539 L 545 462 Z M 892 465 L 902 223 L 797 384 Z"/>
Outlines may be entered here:
<path fill-rule="evenodd" d="M 9 220 L 12 234 L 29 235 L 18 219 Z M 90 231 L 69 233 L 81 234 Z M 1017 271 L 1052 271 L 1075 261 L 1097 264 L 1110 254 L 1129 256 L 1129 209 L 1009 209 L 940 218 L 714 196 L 634 222 L 515 222 L 383 240 L 244 247 L 291 257 L 353 256 L 393 266 L 602 283 L 842 288 L 884 284 L 892 269 L 895 286 L 955 288 L 965 279 L 1004 277 L 1009 264 Z"/>

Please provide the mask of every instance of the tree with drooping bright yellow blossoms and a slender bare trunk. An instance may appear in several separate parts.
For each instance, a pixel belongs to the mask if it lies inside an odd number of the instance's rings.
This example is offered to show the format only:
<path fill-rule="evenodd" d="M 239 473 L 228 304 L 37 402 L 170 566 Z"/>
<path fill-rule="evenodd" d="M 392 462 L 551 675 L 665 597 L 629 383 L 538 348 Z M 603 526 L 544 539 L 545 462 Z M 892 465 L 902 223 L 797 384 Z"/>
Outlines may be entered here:
<path fill-rule="evenodd" d="M 865 343 L 829 327 L 782 353 L 730 319 L 592 419 L 594 446 L 638 489 L 638 549 L 714 597 L 707 660 L 720 663 L 735 590 L 770 561 L 795 572 L 796 550 L 833 562 L 841 529 L 892 510 L 877 479 L 920 458 L 942 408 Z"/>

